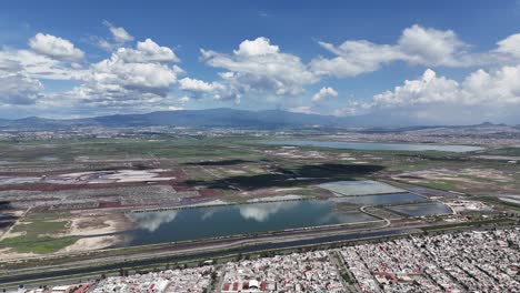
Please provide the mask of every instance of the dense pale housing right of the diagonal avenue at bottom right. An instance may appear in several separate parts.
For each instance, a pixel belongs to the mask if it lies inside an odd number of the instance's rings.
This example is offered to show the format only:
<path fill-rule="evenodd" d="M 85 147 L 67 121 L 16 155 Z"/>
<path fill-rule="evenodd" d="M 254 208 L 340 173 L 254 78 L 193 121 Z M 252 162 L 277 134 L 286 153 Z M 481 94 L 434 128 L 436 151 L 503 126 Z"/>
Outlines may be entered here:
<path fill-rule="evenodd" d="M 520 230 L 472 231 L 346 246 L 362 292 L 516 292 Z"/>

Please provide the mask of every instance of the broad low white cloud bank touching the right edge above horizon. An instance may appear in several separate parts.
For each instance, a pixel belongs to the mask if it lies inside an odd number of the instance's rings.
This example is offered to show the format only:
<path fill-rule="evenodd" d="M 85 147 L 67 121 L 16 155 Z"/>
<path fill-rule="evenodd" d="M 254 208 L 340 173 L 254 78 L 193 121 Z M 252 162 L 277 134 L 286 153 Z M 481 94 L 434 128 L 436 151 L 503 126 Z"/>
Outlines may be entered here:
<path fill-rule="evenodd" d="M 376 94 L 371 101 L 351 102 L 343 113 L 373 112 L 380 117 L 413 118 L 423 123 L 518 121 L 520 65 L 471 72 L 461 82 L 428 69 L 416 80 Z"/>

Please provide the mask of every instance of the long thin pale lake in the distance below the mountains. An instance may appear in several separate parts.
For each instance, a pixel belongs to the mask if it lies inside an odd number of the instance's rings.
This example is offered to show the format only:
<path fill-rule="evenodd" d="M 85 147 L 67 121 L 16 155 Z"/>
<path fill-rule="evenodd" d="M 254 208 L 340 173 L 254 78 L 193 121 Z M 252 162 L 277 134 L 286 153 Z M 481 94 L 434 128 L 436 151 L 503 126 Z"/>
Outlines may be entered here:
<path fill-rule="evenodd" d="M 341 141 L 312 141 L 312 140 L 282 140 L 270 141 L 271 145 L 318 146 L 331 149 L 379 150 L 379 151 L 442 151 L 442 152 L 472 152 L 483 150 L 473 145 L 456 144 L 413 144 L 413 143 L 378 143 L 378 142 L 341 142 Z"/>

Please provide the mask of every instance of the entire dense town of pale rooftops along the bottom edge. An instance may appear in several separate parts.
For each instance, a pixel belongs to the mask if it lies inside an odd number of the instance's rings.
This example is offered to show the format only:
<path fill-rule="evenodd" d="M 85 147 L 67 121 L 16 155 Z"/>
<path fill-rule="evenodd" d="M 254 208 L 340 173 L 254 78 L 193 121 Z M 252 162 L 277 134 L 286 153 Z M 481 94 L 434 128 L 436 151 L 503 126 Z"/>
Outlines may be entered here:
<path fill-rule="evenodd" d="M 514 228 L 410 236 L 22 292 L 520 292 L 519 289 L 520 228 Z"/>

